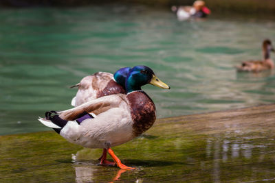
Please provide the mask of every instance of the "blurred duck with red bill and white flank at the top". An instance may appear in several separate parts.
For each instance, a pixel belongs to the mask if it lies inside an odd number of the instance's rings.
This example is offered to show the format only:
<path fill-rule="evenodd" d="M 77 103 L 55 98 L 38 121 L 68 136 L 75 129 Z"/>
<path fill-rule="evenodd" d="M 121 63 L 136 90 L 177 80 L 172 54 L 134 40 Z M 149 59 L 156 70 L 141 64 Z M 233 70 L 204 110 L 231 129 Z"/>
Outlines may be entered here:
<path fill-rule="evenodd" d="M 177 12 L 177 18 L 179 20 L 186 20 L 192 17 L 205 18 L 211 13 L 204 1 L 195 1 L 192 6 L 177 7 L 173 5 L 171 10 Z"/>

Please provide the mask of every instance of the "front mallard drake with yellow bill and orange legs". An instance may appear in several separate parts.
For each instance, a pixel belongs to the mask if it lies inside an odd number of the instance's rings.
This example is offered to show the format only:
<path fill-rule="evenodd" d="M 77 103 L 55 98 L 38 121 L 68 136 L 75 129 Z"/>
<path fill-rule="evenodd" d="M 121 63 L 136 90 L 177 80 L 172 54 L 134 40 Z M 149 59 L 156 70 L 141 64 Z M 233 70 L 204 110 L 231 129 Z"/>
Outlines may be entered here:
<path fill-rule="evenodd" d="M 141 88 L 145 84 L 170 89 L 148 66 L 134 66 L 126 77 L 126 94 L 107 95 L 60 112 L 48 111 L 39 121 L 71 143 L 102 148 L 101 165 L 135 169 L 122 164 L 111 147 L 140 136 L 155 122 L 155 104 Z M 107 153 L 113 162 L 107 160 Z"/>

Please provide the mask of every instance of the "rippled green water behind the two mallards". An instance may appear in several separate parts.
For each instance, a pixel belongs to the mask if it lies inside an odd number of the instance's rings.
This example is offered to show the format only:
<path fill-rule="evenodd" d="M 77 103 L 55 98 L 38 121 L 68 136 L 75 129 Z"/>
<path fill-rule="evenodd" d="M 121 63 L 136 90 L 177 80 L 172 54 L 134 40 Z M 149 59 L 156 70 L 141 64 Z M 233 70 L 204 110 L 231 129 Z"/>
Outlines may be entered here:
<path fill-rule="evenodd" d="M 0 11 L 0 135 L 49 130 L 37 117 L 71 108 L 85 75 L 144 64 L 171 86 L 144 86 L 157 117 L 275 102 L 275 75 L 236 73 L 275 43 L 274 19 L 213 14 L 177 21 L 144 6 Z M 272 55 L 273 58 L 274 55 Z"/>

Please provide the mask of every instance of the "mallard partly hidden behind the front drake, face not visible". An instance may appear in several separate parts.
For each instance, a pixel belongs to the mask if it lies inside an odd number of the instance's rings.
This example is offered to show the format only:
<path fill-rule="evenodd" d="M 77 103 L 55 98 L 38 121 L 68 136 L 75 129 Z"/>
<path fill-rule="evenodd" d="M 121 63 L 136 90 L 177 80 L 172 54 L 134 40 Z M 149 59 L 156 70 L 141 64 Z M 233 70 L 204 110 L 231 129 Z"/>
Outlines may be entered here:
<path fill-rule="evenodd" d="M 131 67 L 124 67 L 116 71 L 114 74 L 98 72 L 83 77 L 80 83 L 71 86 L 71 88 L 78 87 L 76 97 L 74 97 L 71 102 L 72 106 L 80 106 L 87 101 L 105 95 L 117 93 L 126 94 L 125 80 L 130 69 Z"/>

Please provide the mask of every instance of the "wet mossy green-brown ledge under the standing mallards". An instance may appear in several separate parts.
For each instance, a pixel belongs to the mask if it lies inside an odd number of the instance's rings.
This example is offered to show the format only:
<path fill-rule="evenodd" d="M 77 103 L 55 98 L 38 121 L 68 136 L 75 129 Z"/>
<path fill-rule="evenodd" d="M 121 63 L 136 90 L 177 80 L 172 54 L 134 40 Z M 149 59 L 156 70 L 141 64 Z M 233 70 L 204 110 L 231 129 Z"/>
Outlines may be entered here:
<path fill-rule="evenodd" d="M 275 181 L 275 105 L 158 119 L 113 148 L 134 171 L 98 164 L 54 132 L 0 136 L 1 182 Z"/>

